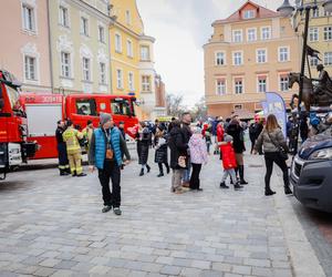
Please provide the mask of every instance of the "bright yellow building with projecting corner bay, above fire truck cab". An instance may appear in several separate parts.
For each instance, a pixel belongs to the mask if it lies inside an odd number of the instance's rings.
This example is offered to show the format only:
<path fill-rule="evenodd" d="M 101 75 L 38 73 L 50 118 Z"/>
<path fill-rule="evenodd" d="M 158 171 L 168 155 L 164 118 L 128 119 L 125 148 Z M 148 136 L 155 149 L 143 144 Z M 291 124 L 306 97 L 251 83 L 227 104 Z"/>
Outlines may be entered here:
<path fill-rule="evenodd" d="M 111 0 L 110 28 L 112 93 L 135 95 L 139 119 L 151 119 L 155 107 L 155 39 L 144 34 L 135 0 Z"/>

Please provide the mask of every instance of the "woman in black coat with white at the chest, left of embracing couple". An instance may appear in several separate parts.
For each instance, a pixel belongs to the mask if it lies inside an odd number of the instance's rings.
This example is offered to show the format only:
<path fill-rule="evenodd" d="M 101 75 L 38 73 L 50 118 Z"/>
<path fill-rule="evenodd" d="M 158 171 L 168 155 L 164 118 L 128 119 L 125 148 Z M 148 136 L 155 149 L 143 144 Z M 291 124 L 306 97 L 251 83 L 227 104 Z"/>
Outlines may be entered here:
<path fill-rule="evenodd" d="M 158 164 L 159 167 L 159 175 L 157 177 L 164 176 L 163 164 L 166 166 L 167 174 L 169 173 L 169 165 L 168 165 L 168 151 L 167 151 L 167 135 L 165 134 L 165 129 L 159 125 L 156 131 L 155 135 L 155 145 L 156 145 L 156 153 L 155 153 L 155 163 Z"/>

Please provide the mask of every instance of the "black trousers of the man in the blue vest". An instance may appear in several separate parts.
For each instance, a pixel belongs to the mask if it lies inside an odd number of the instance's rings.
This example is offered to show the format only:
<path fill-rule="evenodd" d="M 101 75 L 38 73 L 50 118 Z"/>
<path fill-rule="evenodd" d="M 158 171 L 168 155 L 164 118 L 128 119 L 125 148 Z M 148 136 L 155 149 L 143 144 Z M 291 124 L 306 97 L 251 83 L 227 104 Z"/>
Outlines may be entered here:
<path fill-rule="evenodd" d="M 121 205 L 121 170 L 114 161 L 104 162 L 104 170 L 98 170 L 98 178 L 102 185 L 105 206 L 120 207 Z M 112 179 L 112 193 L 110 181 Z"/>

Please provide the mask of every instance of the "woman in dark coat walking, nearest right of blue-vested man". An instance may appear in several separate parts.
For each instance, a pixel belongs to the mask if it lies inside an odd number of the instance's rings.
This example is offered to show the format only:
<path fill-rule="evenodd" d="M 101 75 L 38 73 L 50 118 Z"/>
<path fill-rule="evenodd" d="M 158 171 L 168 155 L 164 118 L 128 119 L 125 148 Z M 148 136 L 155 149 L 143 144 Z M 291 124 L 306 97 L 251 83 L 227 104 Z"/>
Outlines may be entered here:
<path fill-rule="evenodd" d="M 152 142 L 152 133 L 144 122 L 139 122 L 136 141 L 137 141 L 138 164 L 142 165 L 139 176 L 143 176 L 145 167 L 147 170 L 147 173 L 149 173 L 151 171 L 151 167 L 147 164 L 147 160 L 148 160 L 148 148 Z"/>

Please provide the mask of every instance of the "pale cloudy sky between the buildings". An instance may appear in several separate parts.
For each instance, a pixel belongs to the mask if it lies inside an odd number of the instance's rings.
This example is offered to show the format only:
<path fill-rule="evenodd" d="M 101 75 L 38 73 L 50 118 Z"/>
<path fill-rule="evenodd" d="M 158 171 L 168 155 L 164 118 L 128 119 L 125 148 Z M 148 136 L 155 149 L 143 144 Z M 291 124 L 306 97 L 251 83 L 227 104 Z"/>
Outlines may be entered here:
<path fill-rule="evenodd" d="M 156 39 L 155 69 L 166 92 L 183 94 L 193 106 L 204 96 L 203 45 L 211 23 L 229 17 L 247 0 L 136 0 L 145 34 Z M 276 10 L 283 0 L 253 0 Z"/>

